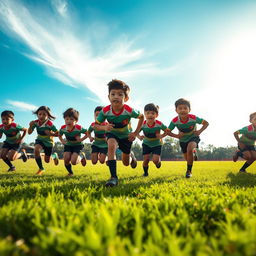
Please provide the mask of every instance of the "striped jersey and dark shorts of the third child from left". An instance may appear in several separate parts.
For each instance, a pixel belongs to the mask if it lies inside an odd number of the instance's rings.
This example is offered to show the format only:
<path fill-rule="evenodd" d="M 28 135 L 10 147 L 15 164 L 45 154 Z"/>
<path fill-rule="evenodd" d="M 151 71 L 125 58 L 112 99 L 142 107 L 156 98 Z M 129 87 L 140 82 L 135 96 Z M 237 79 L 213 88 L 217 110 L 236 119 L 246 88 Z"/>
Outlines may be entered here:
<path fill-rule="evenodd" d="M 67 125 L 61 126 L 59 134 L 65 135 L 67 140 L 66 144 L 64 145 L 64 152 L 80 154 L 84 145 L 82 142 L 77 141 L 76 138 L 80 138 L 81 134 L 85 133 L 87 133 L 87 129 L 78 124 L 76 124 L 72 130 L 68 130 Z"/>

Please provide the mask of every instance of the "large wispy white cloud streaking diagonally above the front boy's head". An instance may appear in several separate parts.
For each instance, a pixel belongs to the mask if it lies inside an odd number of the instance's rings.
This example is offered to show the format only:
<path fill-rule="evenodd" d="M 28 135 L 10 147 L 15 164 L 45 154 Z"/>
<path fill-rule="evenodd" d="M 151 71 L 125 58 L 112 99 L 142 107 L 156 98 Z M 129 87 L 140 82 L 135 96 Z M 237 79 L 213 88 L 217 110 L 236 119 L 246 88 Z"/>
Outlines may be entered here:
<path fill-rule="evenodd" d="M 3 29 L 22 41 L 32 53 L 30 59 L 45 66 L 48 74 L 72 87 L 87 87 L 102 101 L 107 100 L 106 83 L 112 78 L 128 79 L 138 75 L 171 75 L 177 67 L 161 69 L 156 63 L 143 63 L 144 49 L 122 36 L 95 54 L 93 40 L 77 31 L 66 1 L 52 0 L 52 5 L 65 19 L 26 8 L 18 1 L 2 0 L 0 20 Z M 46 17 L 46 18 L 45 18 Z M 81 24 L 80 24 L 81 25 Z M 86 24 L 88 26 L 88 24 Z M 95 28 L 95 23 L 93 24 Z M 88 33 L 90 35 L 90 33 Z M 95 32 L 94 32 L 95 34 Z M 104 43 L 103 43 L 104 42 Z"/>

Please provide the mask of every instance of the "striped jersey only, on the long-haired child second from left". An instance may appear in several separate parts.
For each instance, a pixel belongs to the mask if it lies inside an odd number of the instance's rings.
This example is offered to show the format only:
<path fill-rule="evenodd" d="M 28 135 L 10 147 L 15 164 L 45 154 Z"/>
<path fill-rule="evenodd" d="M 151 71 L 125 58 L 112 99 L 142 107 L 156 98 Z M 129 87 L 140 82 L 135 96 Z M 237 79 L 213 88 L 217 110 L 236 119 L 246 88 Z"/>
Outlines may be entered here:
<path fill-rule="evenodd" d="M 54 124 L 50 120 L 46 120 L 41 123 L 40 120 L 35 120 L 34 125 L 32 126 L 32 131 L 36 128 L 37 131 L 37 139 L 40 140 L 46 147 L 53 146 L 53 136 L 49 136 L 45 133 L 45 131 L 53 131 L 56 132 L 57 129 Z"/>

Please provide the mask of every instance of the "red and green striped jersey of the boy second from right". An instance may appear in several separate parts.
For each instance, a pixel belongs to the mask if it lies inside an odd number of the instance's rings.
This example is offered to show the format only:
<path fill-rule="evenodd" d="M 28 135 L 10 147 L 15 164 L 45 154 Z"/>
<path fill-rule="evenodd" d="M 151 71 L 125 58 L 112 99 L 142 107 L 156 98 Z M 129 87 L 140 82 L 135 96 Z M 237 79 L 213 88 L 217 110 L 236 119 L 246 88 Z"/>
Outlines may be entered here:
<path fill-rule="evenodd" d="M 180 132 L 184 133 L 184 136 L 181 137 L 179 140 L 181 142 L 188 142 L 191 138 L 196 137 L 194 131 L 196 131 L 196 124 L 203 124 L 204 119 L 199 118 L 195 115 L 188 115 L 187 121 L 183 122 L 179 116 L 172 119 L 169 129 L 172 131 L 175 127 Z"/>

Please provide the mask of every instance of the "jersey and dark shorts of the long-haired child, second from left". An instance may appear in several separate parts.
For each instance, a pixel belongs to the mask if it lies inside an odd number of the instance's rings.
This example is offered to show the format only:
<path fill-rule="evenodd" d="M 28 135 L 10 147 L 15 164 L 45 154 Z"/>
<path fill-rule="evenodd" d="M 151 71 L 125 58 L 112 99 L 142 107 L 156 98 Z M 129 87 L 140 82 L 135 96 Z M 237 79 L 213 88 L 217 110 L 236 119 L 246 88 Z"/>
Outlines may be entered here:
<path fill-rule="evenodd" d="M 37 138 L 35 141 L 35 145 L 38 144 L 42 146 L 45 155 L 51 156 L 53 145 L 54 145 L 53 136 L 49 136 L 45 132 L 46 131 L 57 132 L 57 128 L 54 126 L 54 124 L 50 120 L 47 120 L 44 123 L 41 123 L 40 120 L 35 120 L 35 123 L 31 128 L 32 128 L 32 131 L 34 131 L 34 129 L 36 129 L 37 131 Z"/>

